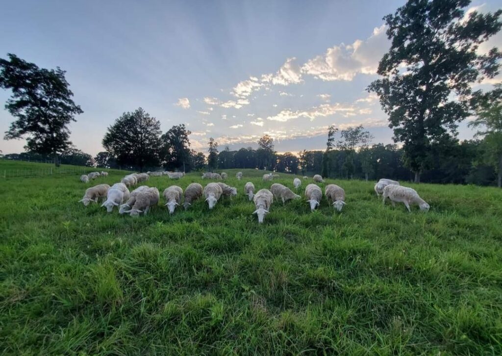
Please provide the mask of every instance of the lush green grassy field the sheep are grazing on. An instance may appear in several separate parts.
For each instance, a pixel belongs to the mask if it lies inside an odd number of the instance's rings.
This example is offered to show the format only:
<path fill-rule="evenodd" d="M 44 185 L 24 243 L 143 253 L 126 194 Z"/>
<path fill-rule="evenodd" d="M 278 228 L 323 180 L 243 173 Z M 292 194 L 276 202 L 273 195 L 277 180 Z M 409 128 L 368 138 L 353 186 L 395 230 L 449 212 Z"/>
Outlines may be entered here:
<path fill-rule="evenodd" d="M 410 185 L 431 205 L 410 214 L 328 180 L 347 205 L 311 213 L 303 181 L 259 225 L 242 188 L 271 183 L 243 172 L 212 211 L 136 219 L 77 203 L 77 175 L 2 180 L 0 352 L 502 354 L 501 190 Z"/>

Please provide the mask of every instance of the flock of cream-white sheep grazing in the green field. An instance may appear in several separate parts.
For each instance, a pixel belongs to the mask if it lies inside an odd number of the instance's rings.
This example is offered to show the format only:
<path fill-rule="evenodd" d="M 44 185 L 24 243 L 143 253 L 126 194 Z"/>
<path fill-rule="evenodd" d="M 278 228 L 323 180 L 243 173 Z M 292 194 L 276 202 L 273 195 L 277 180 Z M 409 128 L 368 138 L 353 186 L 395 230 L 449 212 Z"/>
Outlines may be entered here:
<path fill-rule="evenodd" d="M 160 174 L 159 174 L 160 173 Z M 90 202 L 97 203 L 100 198 L 104 200 L 101 207 L 105 207 L 107 212 L 112 212 L 113 207 L 118 208 L 119 214 L 130 214 L 131 216 L 139 216 L 143 213 L 146 215 L 151 207 L 156 206 L 160 200 L 159 190 L 155 187 L 141 186 L 134 191 L 129 192 L 129 187 L 135 187 L 138 183 L 148 181 L 150 176 L 169 175 L 171 179 L 181 179 L 185 173 L 182 172 L 148 172 L 148 173 L 133 173 L 124 176 L 120 183 L 115 183 L 113 186 L 107 184 L 99 184 L 97 186 L 88 188 L 85 191 L 84 197 L 79 201 L 87 206 Z M 106 176 L 107 172 L 91 172 L 87 175 L 82 175 L 80 180 L 84 183 L 89 182 L 89 179 L 95 179 L 97 176 Z M 237 180 L 242 179 L 242 172 L 235 174 Z M 278 174 L 264 174 L 263 181 L 272 181 Z M 228 177 L 226 173 L 211 173 L 207 172 L 202 175 L 202 179 L 225 180 Z M 304 176 L 303 179 L 308 179 Z M 314 211 L 322 200 L 322 190 L 315 183 L 324 183 L 322 176 L 319 174 L 314 175 L 314 183 L 307 185 L 305 188 L 305 197 L 307 203 L 310 205 L 310 210 Z M 302 181 L 298 178 L 293 180 L 293 186 L 298 190 L 302 185 Z M 408 211 L 411 212 L 410 205 L 417 204 L 420 210 L 428 211 L 429 204 L 427 204 L 418 193 L 408 187 L 403 187 L 397 181 L 389 179 L 381 179 L 375 184 L 374 190 L 377 196 L 383 195 L 383 202 L 387 199 L 392 201 L 392 205 L 396 203 L 404 203 Z M 222 182 L 208 183 L 202 187 L 198 183 L 191 183 L 185 189 L 183 207 L 188 209 L 190 205 L 202 196 L 204 196 L 209 209 L 213 209 L 216 203 L 222 197 L 235 197 L 237 195 L 237 188 L 230 187 Z M 247 182 L 244 185 L 244 194 L 248 196 L 249 201 L 255 203 L 256 210 L 253 214 L 257 214 L 258 222 L 263 223 L 265 215 L 269 213 L 270 207 L 274 202 L 282 201 L 285 204 L 292 199 L 300 199 L 301 197 L 294 193 L 288 187 L 274 183 L 269 189 L 261 189 L 255 194 L 255 185 L 252 182 Z M 166 201 L 165 206 L 169 210 L 169 214 L 173 214 L 176 207 L 181 204 L 183 198 L 183 189 L 178 186 L 170 186 L 166 188 L 162 194 Z M 345 191 L 335 185 L 328 184 L 324 189 L 324 195 L 328 202 L 333 205 L 334 209 L 341 211 L 345 203 Z"/>

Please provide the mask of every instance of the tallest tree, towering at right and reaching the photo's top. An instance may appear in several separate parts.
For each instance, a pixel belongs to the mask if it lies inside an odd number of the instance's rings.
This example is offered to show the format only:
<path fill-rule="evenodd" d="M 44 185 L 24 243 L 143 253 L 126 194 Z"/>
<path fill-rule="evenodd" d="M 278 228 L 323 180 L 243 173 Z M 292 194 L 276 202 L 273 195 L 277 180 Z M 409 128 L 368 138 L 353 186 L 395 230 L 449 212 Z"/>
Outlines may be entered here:
<path fill-rule="evenodd" d="M 368 91 L 375 92 L 403 142 L 405 164 L 420 182 L 428 167 L 431 146 L 456 136 L 458 122 L 469 115 L 470 83 L 498 73 L 502 53 L 493 48 L 478 54 L 479 45 L 501 27 L 502 11 L 472 12 L 464 20 L 470 0 L 409 0 L 387 15 L 392 40 Z M 406 66 L 406 71 L 402 68 Z"/>

